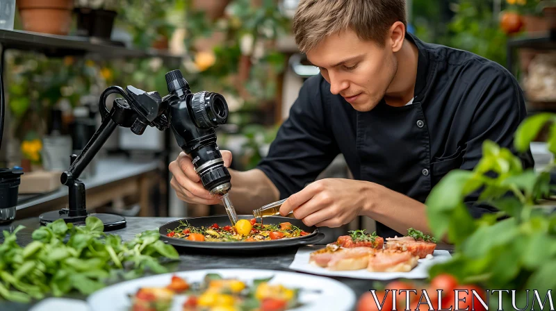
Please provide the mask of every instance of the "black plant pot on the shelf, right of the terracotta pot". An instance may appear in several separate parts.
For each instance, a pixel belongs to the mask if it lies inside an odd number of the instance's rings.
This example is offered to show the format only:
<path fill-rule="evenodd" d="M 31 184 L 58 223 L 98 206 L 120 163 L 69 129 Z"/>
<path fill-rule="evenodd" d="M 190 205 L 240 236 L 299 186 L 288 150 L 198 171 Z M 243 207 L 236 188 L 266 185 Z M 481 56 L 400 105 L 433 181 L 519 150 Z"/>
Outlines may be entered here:
<path fill-rule="evenodd" d="M 76 35 L 110 40 L 120 4 L 118 0 L 75 0 Z"/>

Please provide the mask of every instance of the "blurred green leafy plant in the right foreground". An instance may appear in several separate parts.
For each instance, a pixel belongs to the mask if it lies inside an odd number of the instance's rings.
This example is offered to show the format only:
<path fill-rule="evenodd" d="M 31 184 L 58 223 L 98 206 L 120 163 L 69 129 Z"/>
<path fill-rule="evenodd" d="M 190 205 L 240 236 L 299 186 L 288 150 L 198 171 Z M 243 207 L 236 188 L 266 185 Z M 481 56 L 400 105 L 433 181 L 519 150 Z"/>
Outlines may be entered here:
<path fill-rule="evenodd" d="M 515 133 L 516 153 L 528 151 L 545 126 L 550 128 L 548 150 L 556 153 L 555 121 L 556 115 L 549 113 L 525 119 Z M 556 278 L 548 276 L 556 271 L 556 213 L 541 205 L 550 196 L 553 167 L 523 169 L 512 151 L 485 141 L 473 171 L 447 174 L 425 204 L 432 233 L 448 237 L 455 254 L 432 267 L 430 277 L 449 273 L 464 283 L 521 290 L 518 302 L 523 304 L 525 289 L 542 293 L 556 288 Z M 470 194 L 478 194 L 476 203 L 466 202 Z M 481 204 L 499 212 L 473 219 L 469 206 Z"/>

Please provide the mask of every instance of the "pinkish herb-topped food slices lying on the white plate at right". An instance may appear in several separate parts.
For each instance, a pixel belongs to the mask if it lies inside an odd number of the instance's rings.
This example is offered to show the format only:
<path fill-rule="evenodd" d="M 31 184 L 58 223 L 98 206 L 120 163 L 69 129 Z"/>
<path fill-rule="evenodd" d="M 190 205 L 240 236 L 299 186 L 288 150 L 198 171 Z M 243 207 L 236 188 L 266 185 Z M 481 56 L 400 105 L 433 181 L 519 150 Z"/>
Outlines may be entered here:
<path fill-rule="evenodd" d="M 350 231 L 334 243 L 313 251 L 309 263 L 330 271 L 409 272 L 419 259 L 432 258 L 436 240 L 409 228 L 407 236 L 386 238 L 365 230 Z"/>

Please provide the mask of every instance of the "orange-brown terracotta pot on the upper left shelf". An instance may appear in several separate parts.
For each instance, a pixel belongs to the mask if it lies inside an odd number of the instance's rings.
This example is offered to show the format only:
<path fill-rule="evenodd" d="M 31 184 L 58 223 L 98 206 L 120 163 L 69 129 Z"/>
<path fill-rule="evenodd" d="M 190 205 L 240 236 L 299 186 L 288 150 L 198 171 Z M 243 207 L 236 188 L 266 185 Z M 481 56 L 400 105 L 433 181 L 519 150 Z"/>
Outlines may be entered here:
<path fill-rule="evenodd" d="M 70 32 L 73 0 L 17 0 L 17 6 L 26 31 L 53 35 Z"/>

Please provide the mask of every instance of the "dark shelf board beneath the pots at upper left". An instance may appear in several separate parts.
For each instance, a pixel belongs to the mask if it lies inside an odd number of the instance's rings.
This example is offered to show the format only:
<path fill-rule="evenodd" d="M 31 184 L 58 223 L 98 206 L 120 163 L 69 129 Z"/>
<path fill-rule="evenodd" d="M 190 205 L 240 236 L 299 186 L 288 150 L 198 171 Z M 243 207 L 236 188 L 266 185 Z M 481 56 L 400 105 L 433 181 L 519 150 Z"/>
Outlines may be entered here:
<path fill-rule="evenodd" d="M 47 56 L 74 56 L 95 53 L 104 58 L 145 58 L 160 57 L 166 60 L 181 60 L 166 51 L 140 51 L 129 49 L 121 42 L 99 40 L 92 37 L 49 35 L 30 31 L 0 30 L 0 44 L 3 49 L 37 51 Z"/>

